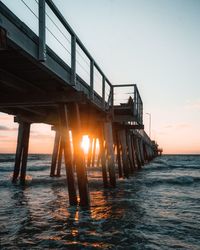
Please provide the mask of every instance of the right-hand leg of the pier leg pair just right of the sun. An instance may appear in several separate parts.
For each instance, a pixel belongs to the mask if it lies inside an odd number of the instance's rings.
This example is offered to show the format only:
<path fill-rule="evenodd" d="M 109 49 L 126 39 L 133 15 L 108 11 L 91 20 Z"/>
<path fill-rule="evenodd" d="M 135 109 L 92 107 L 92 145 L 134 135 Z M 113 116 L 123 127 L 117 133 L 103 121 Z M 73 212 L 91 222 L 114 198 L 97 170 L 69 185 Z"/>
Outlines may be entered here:
<path fill-rule="evenodd" d="M 108 159 L 108 172 L 110 177 L 110 185 L 116 187 L 116 176 L 115 176 L 115 157 L 113 149 L 113 131 L 112 123 L 104 123 L 104 136 L 107 148 L 107 159 Z"/>

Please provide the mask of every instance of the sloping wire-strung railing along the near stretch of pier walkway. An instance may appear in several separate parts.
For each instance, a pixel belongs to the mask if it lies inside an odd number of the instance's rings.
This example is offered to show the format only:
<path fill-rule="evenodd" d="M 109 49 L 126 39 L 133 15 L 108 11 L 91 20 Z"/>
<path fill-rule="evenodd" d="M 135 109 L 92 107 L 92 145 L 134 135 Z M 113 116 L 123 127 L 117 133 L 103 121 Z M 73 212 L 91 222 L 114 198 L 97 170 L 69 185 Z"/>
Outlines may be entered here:
<path fill-rule="evenodd" d="M 70 85 L 84 88 L 102 109 L 112 106 L 112 84 L 52 0 L 0 2 L 38 36 L 39 61 L 45 62 L 52 50 L 70 67 Z"/>

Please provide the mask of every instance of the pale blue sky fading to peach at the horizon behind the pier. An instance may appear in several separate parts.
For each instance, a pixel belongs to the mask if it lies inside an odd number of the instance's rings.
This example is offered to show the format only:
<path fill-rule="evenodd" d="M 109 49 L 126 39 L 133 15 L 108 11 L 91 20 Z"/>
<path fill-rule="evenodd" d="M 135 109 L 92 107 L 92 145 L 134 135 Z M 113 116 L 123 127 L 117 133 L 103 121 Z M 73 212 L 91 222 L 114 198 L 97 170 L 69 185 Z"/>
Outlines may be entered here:
<path fill-rule="evenodd" d="M 15 7 L 12 0 L 3 2 Z M 150 113 L 152 139 L 164 153 L 199 154 L 200 1 L 54 2 L 111 83 L 137 84 L 145 130 L 150 132 Z M 30 152 L 50 153 L 53 136 L 50 126 L 34 124 Z M 16 140 L 17 124 L 1 113 L 0 152 L 15 152 Z"/>

